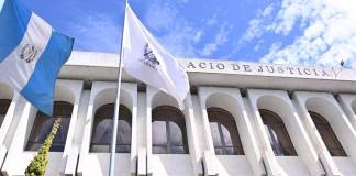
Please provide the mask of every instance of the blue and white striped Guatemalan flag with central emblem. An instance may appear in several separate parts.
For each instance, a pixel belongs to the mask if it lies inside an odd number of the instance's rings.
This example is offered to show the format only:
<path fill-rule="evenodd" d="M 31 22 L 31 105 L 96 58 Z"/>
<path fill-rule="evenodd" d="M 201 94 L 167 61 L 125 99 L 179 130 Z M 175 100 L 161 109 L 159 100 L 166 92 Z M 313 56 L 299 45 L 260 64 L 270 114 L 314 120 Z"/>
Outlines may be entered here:
<path fill-rule="evenodd" d="M 57 75 L 73 43 L 19 0 L 0 0 L 0 81 L 48 116 Z"/>

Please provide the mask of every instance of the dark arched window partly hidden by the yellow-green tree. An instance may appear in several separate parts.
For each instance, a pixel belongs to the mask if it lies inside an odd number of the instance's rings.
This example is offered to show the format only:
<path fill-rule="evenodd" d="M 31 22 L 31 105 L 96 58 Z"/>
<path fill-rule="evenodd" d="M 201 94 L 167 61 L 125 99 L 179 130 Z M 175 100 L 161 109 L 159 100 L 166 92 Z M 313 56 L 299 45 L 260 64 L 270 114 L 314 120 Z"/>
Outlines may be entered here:
<path fill-rule="evenodd" d="M 35 121 L 33 123 L 30 139 L 25 150 L 37 151 L 46 140 L 47 135 L 49 134 L 55 118 L 60 117 L 62 118 L 60 127 L 57 131 L 56 136 L 53 140 L 49 151 L 63 152 L 66 144 L 71 111 L 73 111 L 73 105 L 64 101 L 55 101 L 54 110 L 53 110 L 54 118 L 48 117 L 38 111 Z"/>

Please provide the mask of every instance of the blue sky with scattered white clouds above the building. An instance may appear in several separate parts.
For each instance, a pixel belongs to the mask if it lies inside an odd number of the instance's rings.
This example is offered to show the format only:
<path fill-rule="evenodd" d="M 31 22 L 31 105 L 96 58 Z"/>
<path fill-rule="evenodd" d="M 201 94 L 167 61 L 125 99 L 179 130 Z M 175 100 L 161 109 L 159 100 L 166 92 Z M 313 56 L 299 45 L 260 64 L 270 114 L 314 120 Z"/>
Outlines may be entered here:
<path fill-rule="evenodd" d="M 21 0 L 75 50 L 119 53 L 124 0 Z M 356 68 L 353 0 L 129 0 L 173 55 Z"/>

